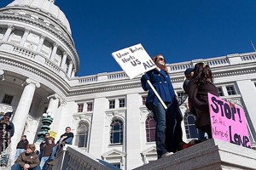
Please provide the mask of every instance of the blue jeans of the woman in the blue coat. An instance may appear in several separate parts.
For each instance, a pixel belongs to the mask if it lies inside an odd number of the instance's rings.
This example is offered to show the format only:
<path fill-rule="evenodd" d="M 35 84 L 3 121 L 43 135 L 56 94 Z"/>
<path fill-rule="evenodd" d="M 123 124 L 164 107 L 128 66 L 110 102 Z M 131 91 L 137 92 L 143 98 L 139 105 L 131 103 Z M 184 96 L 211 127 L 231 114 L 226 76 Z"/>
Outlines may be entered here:
<path fill-rule="evenodd" d="M 156 122 L 155 127 L 155 144 L 156 144 L 156 151 L 157 156 L 160 158 L 164 155 L 166 150 L 166 110 L 158 102 L 156 105 L 151 104 L 150 106 L 151 111 L 154 114 L 154 121 Z"/>

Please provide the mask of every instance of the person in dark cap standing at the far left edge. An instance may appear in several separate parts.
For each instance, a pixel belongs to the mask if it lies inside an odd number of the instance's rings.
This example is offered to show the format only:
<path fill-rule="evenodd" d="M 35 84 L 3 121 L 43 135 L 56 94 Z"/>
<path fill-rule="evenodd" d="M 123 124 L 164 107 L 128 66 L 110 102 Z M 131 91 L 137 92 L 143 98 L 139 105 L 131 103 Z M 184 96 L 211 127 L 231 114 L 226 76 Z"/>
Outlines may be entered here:
<path fill-rule="evenodd" d="M 13 112 L 7 112 L 0 119 L 0 153 L 9 146 L 11 137 L 15 134 L 15 125 L 9 121 L 12 114 Z"/>

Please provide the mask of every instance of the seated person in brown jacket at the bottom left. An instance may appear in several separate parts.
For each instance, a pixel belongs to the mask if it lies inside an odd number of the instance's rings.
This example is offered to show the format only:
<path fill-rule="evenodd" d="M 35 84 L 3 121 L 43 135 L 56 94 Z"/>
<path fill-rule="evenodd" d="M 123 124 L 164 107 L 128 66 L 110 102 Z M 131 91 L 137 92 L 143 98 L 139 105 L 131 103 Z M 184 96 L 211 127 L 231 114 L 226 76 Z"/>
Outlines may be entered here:
<path fill-rule="evenodd" d="M 35 153 L 35 144 L 28 144 L 26 151 L 22 152 L 15 161 L 15 164 L 11 167 L 11 170 L 41 170 L 39 167 L 40 161 L 38 154 Z"/>

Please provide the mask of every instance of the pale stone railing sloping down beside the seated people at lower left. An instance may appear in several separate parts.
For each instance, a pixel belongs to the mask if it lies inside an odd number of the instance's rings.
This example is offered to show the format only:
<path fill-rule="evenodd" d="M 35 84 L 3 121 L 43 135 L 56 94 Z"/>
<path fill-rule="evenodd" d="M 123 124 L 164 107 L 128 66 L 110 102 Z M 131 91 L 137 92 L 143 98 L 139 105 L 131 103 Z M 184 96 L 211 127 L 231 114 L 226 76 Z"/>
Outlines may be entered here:
<path fill-rule="evenodd" d="M 54 170 L 90 169 L 90 170 L 119 170 L 107 161 L 90 156 L 84 150 L 74 146 L 64 146 L 55 157 Z"/>

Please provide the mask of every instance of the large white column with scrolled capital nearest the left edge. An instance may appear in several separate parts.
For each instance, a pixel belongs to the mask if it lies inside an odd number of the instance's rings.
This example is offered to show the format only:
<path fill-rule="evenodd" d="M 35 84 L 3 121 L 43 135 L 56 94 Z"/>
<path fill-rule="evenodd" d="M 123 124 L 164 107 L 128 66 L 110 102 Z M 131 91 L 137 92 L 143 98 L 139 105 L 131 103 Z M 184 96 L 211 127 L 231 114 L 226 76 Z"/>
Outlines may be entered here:
<path fill-rule="evenodd" d="M 20 137 L 22 135 L 24 126 L 26 124 L 26 118 L 29 113 L 29 109 L 32 104 L 32 99 L 35 93 L 36 88 L 39 88 L 40 84 L 38 82 L 33 81 L 30 78 L 26 79 L 26 87 L 24 88 L 20 102 L 15 111 L 15 115 L 13 118 L 13 123 L 15 124 L 15 135 L 11 139 L 11 158 L 15 157 L 15 148 L 17 143 L 20 141 Z"/>

